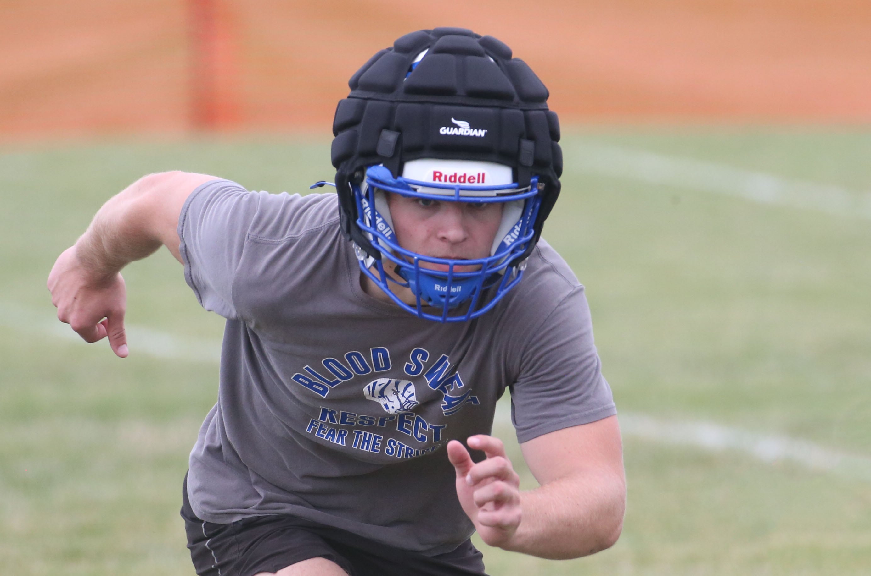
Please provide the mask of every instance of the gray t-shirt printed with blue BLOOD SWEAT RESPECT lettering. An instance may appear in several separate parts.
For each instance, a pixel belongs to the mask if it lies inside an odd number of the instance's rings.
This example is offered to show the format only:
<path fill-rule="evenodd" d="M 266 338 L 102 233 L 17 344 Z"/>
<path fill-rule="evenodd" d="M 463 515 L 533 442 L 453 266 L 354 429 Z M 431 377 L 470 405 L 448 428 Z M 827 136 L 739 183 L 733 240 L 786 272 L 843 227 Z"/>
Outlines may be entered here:
<path fill-rule="evenodd" d="M 473 526 L 443 447 L 490 433 L 506 387 L 519 442 L 616 412 L 584 287 L 541 241 L 481 318 L 416 318 L 363 291 L 336 200 L 213 180 L 181 211 L 187 283 L 227 318 L 191 505 L 209 522 L 287 513 L 448 552 Z"/>

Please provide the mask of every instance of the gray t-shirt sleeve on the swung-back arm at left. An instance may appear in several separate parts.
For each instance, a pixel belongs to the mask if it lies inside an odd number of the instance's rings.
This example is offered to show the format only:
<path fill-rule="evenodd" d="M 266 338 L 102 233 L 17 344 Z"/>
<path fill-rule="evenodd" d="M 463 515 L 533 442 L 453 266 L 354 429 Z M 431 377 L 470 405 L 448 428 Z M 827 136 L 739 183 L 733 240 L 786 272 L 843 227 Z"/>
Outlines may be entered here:
<path fill-rule="evenodd" d="M 187 284 L 203 308 L 224 318 L 238 318 L 233 278 L 260 196 L 235 182 L 212 180 L 192 192 L 179 215 L 179 252 Z"/>

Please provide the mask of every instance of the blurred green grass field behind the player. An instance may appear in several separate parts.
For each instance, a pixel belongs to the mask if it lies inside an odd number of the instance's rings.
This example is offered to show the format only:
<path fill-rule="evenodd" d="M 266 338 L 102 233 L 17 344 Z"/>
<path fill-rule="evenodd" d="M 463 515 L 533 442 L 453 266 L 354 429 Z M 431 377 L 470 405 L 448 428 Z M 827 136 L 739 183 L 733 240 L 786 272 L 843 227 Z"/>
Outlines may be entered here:
<path fill-rule="evenodd" d="M 606 148 L 613 162 L 584 164 L 574 156 L 584 146 Z M 871 132 L 598 129 L 571 133 L 564 147 L 563 197 L 544 236 L 587 286 L 627 424 L 721 425 L 871 461 Z M 641 151 L 669 158 L 677 172 L 627 170 Z M 785 191 L 772 199 L 750 190 L 767 198 L 754 202 L 686 184 L 699 175 L 716 184 L 718 166 L 764 173 Z M 306 191 L 333 173 L 327 140 L 0 154 L 0 573 L 192 573 L 180 486 L 216 398 L 217 364 L 203 354 L 155 358 L 145 336 L 137 340 L 141 330 L 123 361 L 105 342 L 64 338 L 44 288 L 54 258 L 106 198 L 168 169 L 269 191 Z M 810 184 L 815 208 L 788 205 Z M 841 208 L 820 209 L 827 203 Z M 220 318 L 199 308 L 165 250 L 125 278 L 134 328 L 182 343 L 219 339 Z M 496 433 L 513 438 L 504 421 Z M 776 451 L 770 460 L 627 433 L 629 500 L 617 546 L 564 562 L 487 549 L 488 569 L 867 574 L 871 476 Z M 525 472 L 523 486 L 535 486 Z"/>

